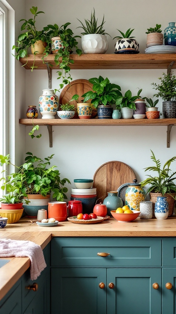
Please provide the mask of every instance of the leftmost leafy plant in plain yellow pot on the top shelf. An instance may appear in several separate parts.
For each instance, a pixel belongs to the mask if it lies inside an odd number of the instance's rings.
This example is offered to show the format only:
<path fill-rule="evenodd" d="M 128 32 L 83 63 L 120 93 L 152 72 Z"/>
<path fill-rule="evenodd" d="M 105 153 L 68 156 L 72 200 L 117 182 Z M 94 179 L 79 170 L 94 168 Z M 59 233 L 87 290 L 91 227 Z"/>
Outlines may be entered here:
<path fill-rule="evenodd" d="M 18 46 L 14 45 L 12 49 L 15 50 L 16 55 L 14 56 L 17 60 L 19 58 L 28 58 L 28 48 L 31 48 L 31 53 L 34 54 L 34 62 L 31 67 L 31 71 L 33 71 L 35 63 L 35 55 L 36 54 L 45 54 L 48 55 L 51 47 L 51 40 L 47 30 L 44 28 L 43 30 L 36 29 L 36 16 L 40 13 L 44 13 L 43 11 L 37 11 L 37 7 L 30 8 L 31 13 L 34 15 L 33 19 L 21 19 L 19 22 L 24 21 L 21 26 L 21 30 L 26 30 L 18 36 Z M 28 62 L 28 59 L 27 59 Z M 27 63 L 26 62 L 26 63 Z M 25 63 L 25 64 L 26 64 Z M 24 65 L 25 65 L 24 64 Z M 24 66 L 23 65 L 23 66 Z"/>

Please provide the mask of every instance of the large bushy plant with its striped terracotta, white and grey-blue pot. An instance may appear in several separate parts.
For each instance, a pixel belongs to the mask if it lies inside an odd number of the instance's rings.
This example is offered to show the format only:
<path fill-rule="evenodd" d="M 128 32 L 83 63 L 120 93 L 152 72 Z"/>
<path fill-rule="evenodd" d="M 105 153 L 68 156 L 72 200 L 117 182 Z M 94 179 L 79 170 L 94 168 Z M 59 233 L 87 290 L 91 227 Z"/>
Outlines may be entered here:
<path fill-rule="evenodd" d="M 68 183 L 70 181 L 66 178 L 60 179 L 60 172 L 56 169 L 57 166 L 50 166 L 50 160 L 54 154 L 44 158 L 44 160 L 30 152 L 26 154 L 25 163 L 20 167 L 15 166 L 18 173 L 12 174 L 12 176 L 16 178 L 15 184 L 17 186 L 21 184 L 20 192 L 24 194 L 24 200 L 30 202 L 23 205 L 26 214 L 29 217 L 37 217 L 39 209 L 48 208 L 51 192 L 53 192 L 53 198 L 56 198 L 57 201 L 67 199 L 65 193 L 68 189 L 64 185 L 66 181 Z M 6 163 L 6 165 L 13 165 L 9 155 L 1 155 L 0 161 Z"/>

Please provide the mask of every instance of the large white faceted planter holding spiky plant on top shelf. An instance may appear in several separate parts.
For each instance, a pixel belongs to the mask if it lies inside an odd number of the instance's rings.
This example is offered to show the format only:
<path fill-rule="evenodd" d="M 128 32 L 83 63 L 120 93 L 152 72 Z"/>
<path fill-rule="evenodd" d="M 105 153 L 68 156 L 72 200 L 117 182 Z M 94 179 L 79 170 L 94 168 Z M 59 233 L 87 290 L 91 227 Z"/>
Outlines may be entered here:
<path fill-rule="evenodd" d="M 106 35 L 87 34 L 81 37 L 81 47 L 84 53 L 105 53 L 108 46 Z"/>

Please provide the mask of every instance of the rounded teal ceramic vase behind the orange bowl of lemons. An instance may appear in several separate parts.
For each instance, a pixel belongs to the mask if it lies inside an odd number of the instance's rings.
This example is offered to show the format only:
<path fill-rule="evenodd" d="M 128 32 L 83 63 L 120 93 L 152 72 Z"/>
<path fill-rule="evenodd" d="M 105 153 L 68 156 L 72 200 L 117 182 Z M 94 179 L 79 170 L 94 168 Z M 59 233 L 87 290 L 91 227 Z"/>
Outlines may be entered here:
<path fill-rule="evenodd" d="M 107 215 L 111 216 L 111 210 L 116 210 L 123 206 L 122 198 L 117 196 L 116 191 L 110 191 L 108 196 L 104 199 L 103 204 L 107 207 Z"/>

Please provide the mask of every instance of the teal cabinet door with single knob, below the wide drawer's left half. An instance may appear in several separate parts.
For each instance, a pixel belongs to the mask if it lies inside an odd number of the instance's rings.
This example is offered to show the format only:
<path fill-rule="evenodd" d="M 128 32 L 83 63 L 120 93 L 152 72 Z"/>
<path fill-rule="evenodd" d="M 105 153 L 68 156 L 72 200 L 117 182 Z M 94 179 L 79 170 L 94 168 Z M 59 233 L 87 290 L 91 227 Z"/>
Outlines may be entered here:
<path fill-rule="evenodd" d="M 82 313 L 106 314 L 106 269 L 51 268 L 51 314 Z"/>

